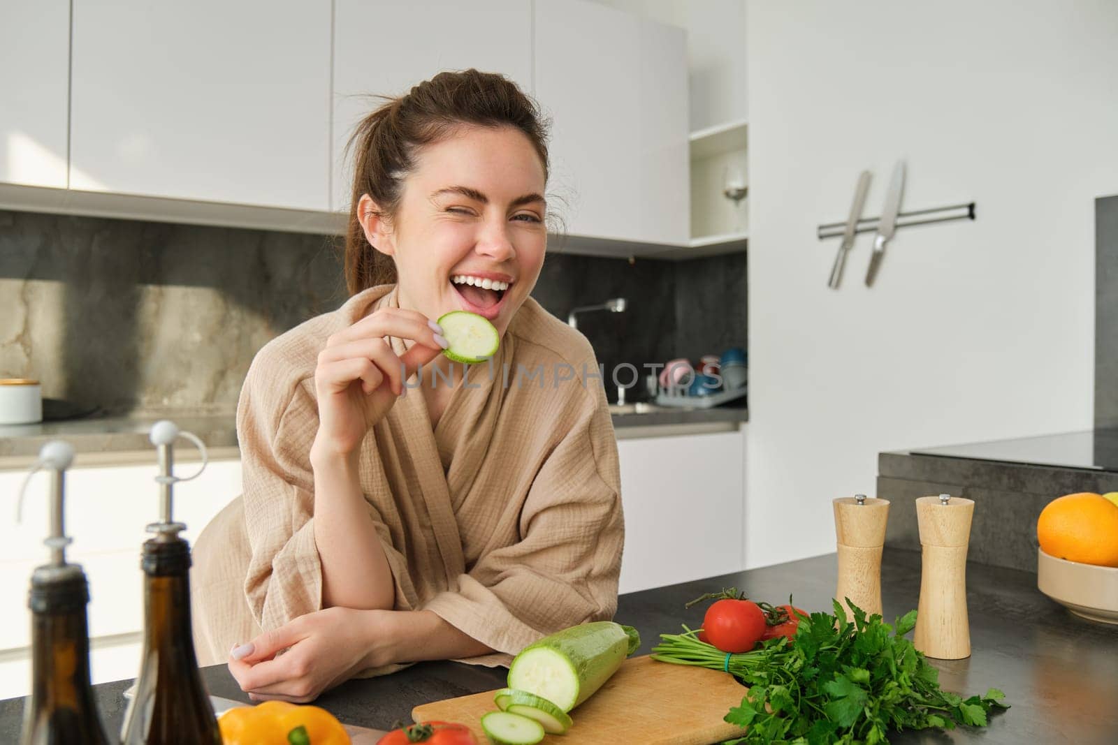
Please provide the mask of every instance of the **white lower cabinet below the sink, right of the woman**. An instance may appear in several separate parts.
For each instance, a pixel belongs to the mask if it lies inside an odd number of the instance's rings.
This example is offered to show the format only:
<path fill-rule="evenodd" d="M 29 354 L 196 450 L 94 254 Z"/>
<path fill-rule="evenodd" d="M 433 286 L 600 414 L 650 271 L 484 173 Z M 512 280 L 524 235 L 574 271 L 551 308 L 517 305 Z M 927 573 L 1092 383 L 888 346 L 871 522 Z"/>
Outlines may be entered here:
<path fill-rule="evenodd" d="M 620 440 L 620 592 L 742 569 L 745 430 Z"/>

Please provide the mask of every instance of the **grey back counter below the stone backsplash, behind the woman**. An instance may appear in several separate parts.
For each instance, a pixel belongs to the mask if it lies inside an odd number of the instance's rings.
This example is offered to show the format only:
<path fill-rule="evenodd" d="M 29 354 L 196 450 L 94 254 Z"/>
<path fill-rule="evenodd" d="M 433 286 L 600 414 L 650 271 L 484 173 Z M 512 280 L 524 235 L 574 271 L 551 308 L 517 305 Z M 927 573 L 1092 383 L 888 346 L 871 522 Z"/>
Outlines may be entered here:
<path fill-rule="evenodd" d="M 618 440 L 669 434 L 729 432 L 749 418 L 745 407 L 713 409 L 662 409 L 641 413 L 614 413 L 614 431 Z M 197 414 L 123 414 L 39 424 L 0 426 L 0 469 L 27 468 L 49 440 L 65 439 L 79 455 L 79 466 L 151 462 L 152 445 L 148 441 L 151 426 L 160 419 L 171 419 L 181 429 L 193 432 L 210 450 L 214 459 L 236 459 L 237 426 L 230 413 Z M 183 443 L 186 445 L 186 443 Z M 181 447 L 176 459 L 197 460 L 192 447 Z"/>

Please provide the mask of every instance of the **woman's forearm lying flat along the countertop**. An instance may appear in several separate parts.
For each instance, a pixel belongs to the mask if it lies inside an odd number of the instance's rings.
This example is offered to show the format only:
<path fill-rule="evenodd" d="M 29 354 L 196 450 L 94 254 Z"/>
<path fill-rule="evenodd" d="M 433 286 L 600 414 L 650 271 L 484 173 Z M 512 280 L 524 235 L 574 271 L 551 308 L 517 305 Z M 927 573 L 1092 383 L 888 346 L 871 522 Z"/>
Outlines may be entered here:
<path fill-rule="evenodd" d="M 370 667 L 389 662 L 451 660 L 490 655 L 493 649 L 477 641 L 432 611 L 394 611 L 387 633 L 370 639 Z M 386 639 L 392 643 L 385 648 Z"/>

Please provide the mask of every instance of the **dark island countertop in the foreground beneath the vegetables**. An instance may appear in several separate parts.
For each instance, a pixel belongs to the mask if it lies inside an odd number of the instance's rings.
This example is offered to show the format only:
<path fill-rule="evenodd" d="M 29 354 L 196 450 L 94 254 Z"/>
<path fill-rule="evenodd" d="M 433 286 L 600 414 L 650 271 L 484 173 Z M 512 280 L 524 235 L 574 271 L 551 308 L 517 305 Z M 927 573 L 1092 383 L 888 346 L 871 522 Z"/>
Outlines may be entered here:
<path fill-rule="evenodd" d="M 888 620 L 916 608 L 920 555 L 887 548 L 881 589 Z M 789 593 L 796 605 L 819 610 L 830 605 L 835 586 L 834 554 L 728 574 L 710 580 L 622 595 L 616 619 L 636 627 L 647 653 L 661 632 L 680 623 L 692 628 L 701 610 L 684 611 L 698 595 L 736 585 L 754 598 L 779 602 Z M 967 603 L 973 655 L 957 661 L 932 660 L 944 688 L 957 693 L 1005 691 L 1013 708 L 993 717 L 985 729 L 902 733 L 892 743 L 1078 743 L 1110 744 L 1118 734 L 1118 627 L 1071 615 L 1036 590 L 1036 575 L 1017 570 L 970 564 Z M 203 669 L 210 693 L 247 700 L 225 666 Z M 316 703 L 347 724 L 389 728 L 410 722 L 418 704 L 464 696 L 504 685 L 503 668 L 457 662 L 423 662 L 401 672 L 370 680 L 351 680 Z M 120 732 L 124 716 L 121 693 L 131 681 L 96 686 L 102 716 L 110 732 Z M 0 742 L 16 742 L 22 699 L 0 701 Z"/>

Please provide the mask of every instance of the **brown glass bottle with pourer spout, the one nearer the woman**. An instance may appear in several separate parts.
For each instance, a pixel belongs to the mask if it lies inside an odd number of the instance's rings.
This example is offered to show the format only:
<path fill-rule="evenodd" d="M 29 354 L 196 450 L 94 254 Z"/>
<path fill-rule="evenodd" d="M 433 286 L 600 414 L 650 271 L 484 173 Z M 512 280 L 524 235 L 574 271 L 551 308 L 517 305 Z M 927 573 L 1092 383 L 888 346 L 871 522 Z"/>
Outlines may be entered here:
<path fill-rule="evenodd" d="M 190 545 L 179 536 L 187 526 L 172 517 L 171 488 L 182 479 L 172 474 L 171 443 L 179 434 L 169 421 L 157 422 L 151 431 L 162 504 L 160 520 L 148 526 L 154 537 L 143 544 L 144 641 L 135 695 L 124 715 L 125 745 L 221 743 L 190 628 Z"/>

